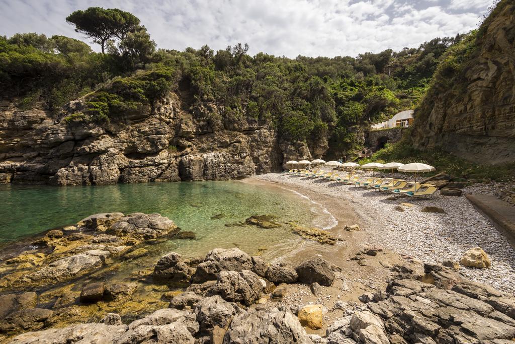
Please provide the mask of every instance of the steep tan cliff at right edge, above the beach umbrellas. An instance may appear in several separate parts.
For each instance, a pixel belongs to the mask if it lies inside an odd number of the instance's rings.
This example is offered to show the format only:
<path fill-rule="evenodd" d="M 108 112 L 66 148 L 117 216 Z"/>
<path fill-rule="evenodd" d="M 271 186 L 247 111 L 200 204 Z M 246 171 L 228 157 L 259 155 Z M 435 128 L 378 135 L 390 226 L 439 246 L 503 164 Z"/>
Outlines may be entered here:
<path fill-rule="evenodd" d="M 515 4 L 502 1 L 479 29 L 462 75 L 428 91 L 415 114 L 416 148 L 481 163 L 515 161 L 514 42 Z"/>

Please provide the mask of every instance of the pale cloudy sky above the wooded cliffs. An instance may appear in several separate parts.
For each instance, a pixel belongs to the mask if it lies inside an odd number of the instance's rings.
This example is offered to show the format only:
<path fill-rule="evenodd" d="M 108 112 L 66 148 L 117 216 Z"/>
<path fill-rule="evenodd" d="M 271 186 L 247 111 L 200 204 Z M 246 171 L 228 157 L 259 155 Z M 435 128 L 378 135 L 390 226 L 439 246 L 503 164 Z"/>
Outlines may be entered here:
<path fill-rule="evenodd" d="M 250 55 L 357 56 L 468 32 L 493 1 L 0 0 L 0 35 L 38 32 L 88 42 L 65 18 L 99 6 L 136 15 L 159 48 L 208 44 L 216 51 L 241 42 L 249 44 Z"/>

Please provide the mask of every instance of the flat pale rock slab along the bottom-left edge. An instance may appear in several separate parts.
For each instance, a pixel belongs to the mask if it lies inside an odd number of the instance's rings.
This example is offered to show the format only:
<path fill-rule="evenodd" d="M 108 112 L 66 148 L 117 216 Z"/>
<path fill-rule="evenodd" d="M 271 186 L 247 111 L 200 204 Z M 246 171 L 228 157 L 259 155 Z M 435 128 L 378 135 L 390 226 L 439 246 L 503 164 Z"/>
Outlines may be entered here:
<path fill-rule="evenodd" d="M 127 331 L 127 325 L 110 326 L 106 324 L 78 324 L 63 329 L 48 329 L 37 332 L 27 332 L 12 338 L 15 344 L 70 344 L 98 343 L 110 344 Z"/>

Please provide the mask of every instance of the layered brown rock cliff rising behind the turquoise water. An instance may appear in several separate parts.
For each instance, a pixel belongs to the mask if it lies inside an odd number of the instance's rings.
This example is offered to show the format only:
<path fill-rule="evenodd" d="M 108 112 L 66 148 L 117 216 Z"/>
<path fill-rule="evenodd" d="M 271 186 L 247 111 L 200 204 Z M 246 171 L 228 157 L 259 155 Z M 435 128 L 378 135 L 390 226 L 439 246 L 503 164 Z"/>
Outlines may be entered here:
<path fill-rule="evenodd" d="M 107 125 L 65 120 L 83 106 L 77 100 L 53 117 L 0 104 L 0 183 L 235 179 L 279 171 L 291 158 L 311 158 L 307 146 L 283 142 L 269 123 L 225 123 L 215 105 L 187 107 L 179 93 Z"/>

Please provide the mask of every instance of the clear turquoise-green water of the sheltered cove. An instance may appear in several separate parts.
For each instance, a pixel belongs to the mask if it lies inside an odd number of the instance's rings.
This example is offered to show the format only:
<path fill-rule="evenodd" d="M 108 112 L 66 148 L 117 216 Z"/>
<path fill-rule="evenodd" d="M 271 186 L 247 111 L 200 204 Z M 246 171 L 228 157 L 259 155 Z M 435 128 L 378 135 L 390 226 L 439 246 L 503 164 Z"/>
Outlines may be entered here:
<path fill-rule="evenodd" d="M 266 249 L 270 257 L 286 254 L 301 241 L 287 225 L 273 230 L 225 226 L 251 215 L 272 214 L 279 221 L 327 226 L 333 221 L 317 204 L 287 190 L 242 182 L 181 182 L 110 186 L 0 186 L 0 243 L 74 224 L 98 212 L 158 212 L 196 240 L 169 240 L 160 251 L 202 255 L 220 247 L 248 253 Z M 221 219 L 211 219 L 223 214 Z"/>

